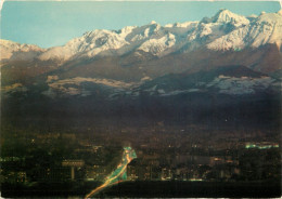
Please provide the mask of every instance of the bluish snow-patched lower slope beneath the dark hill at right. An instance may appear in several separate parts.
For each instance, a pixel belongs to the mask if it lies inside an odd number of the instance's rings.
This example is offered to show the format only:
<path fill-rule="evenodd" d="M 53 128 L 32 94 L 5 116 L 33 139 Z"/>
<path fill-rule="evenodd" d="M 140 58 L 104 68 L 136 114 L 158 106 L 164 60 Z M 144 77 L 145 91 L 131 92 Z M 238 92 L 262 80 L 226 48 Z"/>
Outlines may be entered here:
<path fill-rule="evenodd" d="M 179 80 L 181 81 L 181 80 Z M 174 82 L 174 81 L 172 81 Z M 156 84 L 143 84 L 138 88 L 133 88 L 131 92 L 127 92 L 126 95 L 133 96 L 136 92 L 151 96 L 174 96 L 188 93 L 222 93 L 229 95 L 244 95 L 255 94 L 257 92 L 277 91 L 281 89 L 281 82 L 268 77 L 233 77 L 226 75 L 218 75 L 214 80 L 194 82 L 189 84 L 174 84 L 170 81 L 161 81 Z"/>

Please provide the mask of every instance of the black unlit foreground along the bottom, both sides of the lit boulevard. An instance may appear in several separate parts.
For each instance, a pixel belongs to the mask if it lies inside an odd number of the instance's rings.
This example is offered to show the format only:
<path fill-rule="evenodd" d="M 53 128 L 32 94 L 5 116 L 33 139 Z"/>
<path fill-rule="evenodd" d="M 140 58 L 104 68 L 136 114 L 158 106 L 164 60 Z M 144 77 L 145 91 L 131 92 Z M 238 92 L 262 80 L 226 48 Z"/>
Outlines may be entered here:
<path fill-rule="evenodd" d="M 82 198 L 99 183 L 76 184 L 41 184 L 35 187 L 7 186 L 2 191 L 4 198 Z M 258 197 L 278 198 L 281 196 L 279 182 L 125 182 L 99 193 L 99 198 L 190 198 L 190 197 Z"/>

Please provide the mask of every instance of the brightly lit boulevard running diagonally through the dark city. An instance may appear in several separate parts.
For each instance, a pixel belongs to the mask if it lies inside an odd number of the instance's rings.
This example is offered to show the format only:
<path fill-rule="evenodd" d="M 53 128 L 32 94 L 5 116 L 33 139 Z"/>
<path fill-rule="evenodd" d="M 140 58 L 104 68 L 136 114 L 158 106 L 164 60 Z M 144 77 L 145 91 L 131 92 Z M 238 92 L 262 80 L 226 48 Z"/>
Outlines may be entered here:
<path fill-rule="evenodd" d="M 104 189 L 107 186 L 115 185 L 119 182 L 123 182 L 127 178 L 126 169 L 127 164 L 130 163 L 131 160 L 137 158 L 136 151 L 131 147 L 124 147 L 124 155 L 121 163 L 117 165 L 117 169 L 113 171 L 105 180 L 104 184 L 91 190 L 85 198 L 91 198 L 100 190 Z"/>

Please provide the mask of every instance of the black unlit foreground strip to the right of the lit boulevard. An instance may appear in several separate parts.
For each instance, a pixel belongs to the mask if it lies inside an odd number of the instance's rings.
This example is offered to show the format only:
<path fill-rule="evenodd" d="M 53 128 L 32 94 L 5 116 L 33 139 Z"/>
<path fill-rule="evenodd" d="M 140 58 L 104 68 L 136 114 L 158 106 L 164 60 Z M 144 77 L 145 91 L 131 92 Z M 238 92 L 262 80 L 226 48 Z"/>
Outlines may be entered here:
<path fill-rule="evenodd" d="M 279 183 L 210 182 L 134 182 L 123 183 L 102 191 L 99 197 L 261 197 L 281 196 Z"/>

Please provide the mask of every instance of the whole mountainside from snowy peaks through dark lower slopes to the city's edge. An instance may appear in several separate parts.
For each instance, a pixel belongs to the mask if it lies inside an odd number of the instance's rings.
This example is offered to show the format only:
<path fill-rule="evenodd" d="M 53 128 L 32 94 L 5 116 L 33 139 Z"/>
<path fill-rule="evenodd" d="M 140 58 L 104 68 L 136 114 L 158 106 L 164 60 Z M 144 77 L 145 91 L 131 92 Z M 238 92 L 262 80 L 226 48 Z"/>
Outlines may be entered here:
<path fill-rule="evenodd" d="M 200 22 L 93 30 L 49 49 L 0 40 L 1 117 L 280 124 L 281 32 L 282 11 L 220 10 Z"/>

